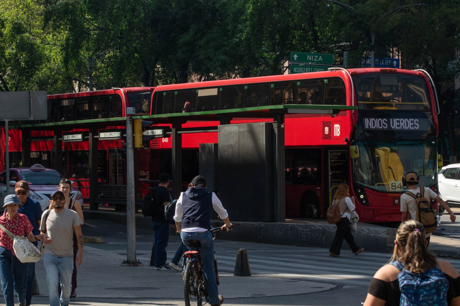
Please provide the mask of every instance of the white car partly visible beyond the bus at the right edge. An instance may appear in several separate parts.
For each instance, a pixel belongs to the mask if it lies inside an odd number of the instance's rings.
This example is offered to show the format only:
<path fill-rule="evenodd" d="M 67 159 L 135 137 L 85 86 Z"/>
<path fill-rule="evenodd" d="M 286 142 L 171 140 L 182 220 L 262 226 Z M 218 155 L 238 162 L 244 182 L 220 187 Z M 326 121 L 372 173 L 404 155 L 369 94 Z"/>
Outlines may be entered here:
<path fill-rule="evenodd" d="M 460 164 L 441 168 L 437 176 L 439 195 L 449 206 L 460 207 Z"/>

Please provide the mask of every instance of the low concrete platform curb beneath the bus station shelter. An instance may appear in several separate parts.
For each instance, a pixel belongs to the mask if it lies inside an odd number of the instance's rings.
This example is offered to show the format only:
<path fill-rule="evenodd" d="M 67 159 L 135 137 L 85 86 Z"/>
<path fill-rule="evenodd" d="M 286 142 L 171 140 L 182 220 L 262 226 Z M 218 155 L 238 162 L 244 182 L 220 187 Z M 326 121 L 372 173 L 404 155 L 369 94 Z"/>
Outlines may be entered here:
<path fill-rule="evenodd" d="M 113 211 L 86 211 L 85 218 L 103 219 L 126 225 L 126 213 Z M 310 246 L 329 248 L 334 239 L 336 226 L 324 220 L 311 220 L 302 223 L 263 223 L 235 221 L 235 228 L 219 239 L 233 241 L 247 241 L 278 245 Z M 222 221 L 213 220 L 213 226 L 221 226 Z M 136 214 L 136 227 L 151 228 L 150 217 Z M 396 236 L 395 228 L 385 228 L 377 225 L 358 223 L 358 231 L 354 239 L 358 246 L 369 252 L 388 253 L 393 248 Z M 171 231 L 171 234 L 175 234 Z M 347 243 L 342 249 L 350 250 Z"/>

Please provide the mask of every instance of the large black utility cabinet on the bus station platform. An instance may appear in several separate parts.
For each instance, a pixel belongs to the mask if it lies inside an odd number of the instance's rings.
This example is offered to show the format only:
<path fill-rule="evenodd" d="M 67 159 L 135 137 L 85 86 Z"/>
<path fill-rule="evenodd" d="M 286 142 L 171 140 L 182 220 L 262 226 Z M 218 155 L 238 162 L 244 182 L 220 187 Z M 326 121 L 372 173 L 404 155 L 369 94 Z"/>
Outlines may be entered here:
<path fill-rule="evenodd" d="M 219 199 L 230 220 L 273 222 L 272 122 L 219 125 Z"/>

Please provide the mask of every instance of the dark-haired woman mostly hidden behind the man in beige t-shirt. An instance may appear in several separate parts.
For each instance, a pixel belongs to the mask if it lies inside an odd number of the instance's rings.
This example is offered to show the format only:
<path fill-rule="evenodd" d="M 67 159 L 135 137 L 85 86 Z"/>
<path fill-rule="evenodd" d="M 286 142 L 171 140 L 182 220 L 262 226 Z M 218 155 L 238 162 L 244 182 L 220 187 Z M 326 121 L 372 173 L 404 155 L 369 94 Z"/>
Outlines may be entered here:
<path fill-rule="evenodd" d="M 62 191 L 62 193 L 64 194 L 64 198 L 65 198 L 65 202 L 64 202 L 64 208 L 68 208 L 70 210 L 73 210 L 75 211 L 78 216 L 80 217 L 81 219 L 81 222 L 82 224 L 84 223 L 84 220 L 83 220 L 83 210 L 82 210 L 82 207 L 80 205 L 80 202 L 72 199 L 70 197 L 70 190 L 72 190 L 72 182 L 70 182 L 69 179 L 67 178 L 63 178 L 61 179 L 61 181 L 59 182 L 59 189 L 60 191 Z M 49 209 L 52 209 L 52 205 L 50 204 L 50 207 Z M 73 241 L 74 241 L 74 245 L 73 245 L 73 248 L 74 248 L 74 270 L 72 271 L 72 292 L 70 292 L 70 298 L 71 299 L 75 299 L 75 297 L 77 297 L 77 292 L 76 292 L 76 289 L 77 289 L 77 266 L 76 266 L 76 259 L 77 259 L 77 254 L 78 254 L 78 241 L 77 241 L 77 236 L 75 235 L 75 232 L 74 232 L 74 235 L 73 235 Z M 61 287 L 58 286 L 58 292 L 59 292 L 59 295 L 61 295 Z"/>

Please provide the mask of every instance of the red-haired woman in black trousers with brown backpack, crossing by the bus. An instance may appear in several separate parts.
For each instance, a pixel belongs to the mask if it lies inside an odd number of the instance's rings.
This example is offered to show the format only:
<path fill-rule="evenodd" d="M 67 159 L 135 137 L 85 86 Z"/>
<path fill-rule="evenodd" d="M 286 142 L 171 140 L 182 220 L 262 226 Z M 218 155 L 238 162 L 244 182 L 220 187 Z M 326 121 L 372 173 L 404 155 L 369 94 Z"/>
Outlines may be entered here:
<path fill-rule="evenodd" d="M 342 183 L 337 188 L 337 192 L 334 195 L 334 204 L 337 203 L 339 205 L 339 210 L 342 217 L 340 218 L 339 222 L 335 223 L 337 230 L 335 231 L 334 240 L 332 240 L 332 245 L 329 249 L 329 256 L 340 257 L 340 249 L 342 248 L 344 239 L 348 245 L 350 245 L 351 251 L 355 255 L 358 255 L 364 249 L 356 245 L 355 239 L 351 234 L 351 229 L 349 226 L 351 218 L 350 212 L 354 211 L 356 206 L 355 198 L 350 198 L 350 191 L 347 184 Z"/>

